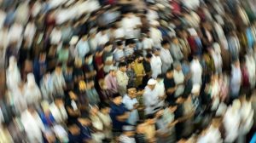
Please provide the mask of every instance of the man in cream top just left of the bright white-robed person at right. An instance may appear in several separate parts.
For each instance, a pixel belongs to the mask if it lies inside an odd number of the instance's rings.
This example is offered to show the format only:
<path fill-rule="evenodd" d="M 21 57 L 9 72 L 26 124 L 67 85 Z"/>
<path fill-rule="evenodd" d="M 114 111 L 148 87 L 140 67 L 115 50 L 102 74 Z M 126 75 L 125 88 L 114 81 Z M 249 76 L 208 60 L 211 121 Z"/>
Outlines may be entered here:
<path fill-rule="evenodd" d="M 184 75 L 182 71 L 182 66 L 179 62 L 174 63 L 174 68 L 175 69 L 173 72 L 173 78 L 177 86 L 174 96 L 177 98 L 178 96 L 182 95 L 184 91 Z"/>

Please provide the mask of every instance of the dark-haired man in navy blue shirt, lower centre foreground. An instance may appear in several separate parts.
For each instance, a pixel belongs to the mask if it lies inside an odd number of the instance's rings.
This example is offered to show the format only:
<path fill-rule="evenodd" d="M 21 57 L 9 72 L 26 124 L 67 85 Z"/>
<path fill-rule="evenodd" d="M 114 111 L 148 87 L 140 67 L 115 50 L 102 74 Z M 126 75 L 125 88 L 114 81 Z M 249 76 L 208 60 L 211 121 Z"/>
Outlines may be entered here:
<path fill-rule="evenodd" d="M 123 126 L 129 118 L 129 110 L 122 103 L 122 96 L 120 94 L 113 94 L 113 100 L 110 104 L 110 117 L 113 123 L 113 137 L 117 138 L 122 133 Z"/>

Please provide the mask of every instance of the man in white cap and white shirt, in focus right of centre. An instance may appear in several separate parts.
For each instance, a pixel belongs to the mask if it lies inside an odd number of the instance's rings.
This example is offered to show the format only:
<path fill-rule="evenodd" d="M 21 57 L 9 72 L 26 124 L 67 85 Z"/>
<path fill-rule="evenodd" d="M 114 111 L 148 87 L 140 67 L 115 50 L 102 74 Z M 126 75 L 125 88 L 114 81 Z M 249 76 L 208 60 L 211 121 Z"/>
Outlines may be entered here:
<path fill-rule="evenodd" d="M 143 100 L 145 106 L 145 114 L 153 114 L 160 110 L 160 94 L 159 90 L 155 88 L 156 80 L 153 78 L 148 80 L 148 86 L 146 86 L 145 91 L 143 93 Z"/>

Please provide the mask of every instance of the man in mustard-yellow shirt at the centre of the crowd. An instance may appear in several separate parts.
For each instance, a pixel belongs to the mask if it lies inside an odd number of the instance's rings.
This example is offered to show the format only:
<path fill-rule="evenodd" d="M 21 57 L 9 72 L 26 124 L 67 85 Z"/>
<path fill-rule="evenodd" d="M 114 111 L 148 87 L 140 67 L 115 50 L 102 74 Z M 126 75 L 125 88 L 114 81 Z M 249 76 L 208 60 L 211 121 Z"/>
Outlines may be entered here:
<path fill-rule="evenodd" d="M 133 70 L 136 73 L 136 86 L 138 87 L 143 83 L 143 77 L 145 76 L 143 56 L 141 54 L 136 55 Z"/>

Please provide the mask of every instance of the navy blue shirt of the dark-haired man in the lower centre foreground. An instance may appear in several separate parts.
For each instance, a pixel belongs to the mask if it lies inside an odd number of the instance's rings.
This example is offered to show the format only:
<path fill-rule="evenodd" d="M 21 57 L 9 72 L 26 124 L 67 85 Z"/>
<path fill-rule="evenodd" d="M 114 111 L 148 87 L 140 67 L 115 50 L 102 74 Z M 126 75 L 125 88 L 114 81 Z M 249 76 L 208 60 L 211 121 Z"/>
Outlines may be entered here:
<path fill-rule="evenodd" d="M 121 115 L 124 115 L 125 112 L 129 112 L 129 111 L 128 111 L 127 108 L 125 108 L 125 105 L 123 103 L 120 104 L 119 106 L 111 103 L 110 108 L 111 108 L 111 110 L 110 110 L 109 115 L 112 119 L 113 129 L 121 131 L 122 127 L 124 125 L 126 125 L 127 123 L 118 121 L 117 117 L 121 116 Z"/>

